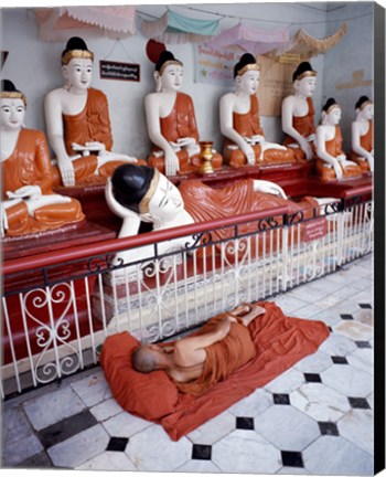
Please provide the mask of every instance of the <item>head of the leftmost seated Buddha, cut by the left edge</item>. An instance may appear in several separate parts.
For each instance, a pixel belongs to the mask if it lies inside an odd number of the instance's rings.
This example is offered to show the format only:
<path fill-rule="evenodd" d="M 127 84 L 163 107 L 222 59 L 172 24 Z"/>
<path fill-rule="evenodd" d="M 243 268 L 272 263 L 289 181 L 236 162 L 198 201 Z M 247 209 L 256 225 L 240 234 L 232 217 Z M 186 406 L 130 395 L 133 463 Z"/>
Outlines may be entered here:
<path fill-rule="evenodd" d="M 23 127 L 26 98 L 9 80 L 1 81 L 0 126 L 3 131 L 20 130 Z"/>

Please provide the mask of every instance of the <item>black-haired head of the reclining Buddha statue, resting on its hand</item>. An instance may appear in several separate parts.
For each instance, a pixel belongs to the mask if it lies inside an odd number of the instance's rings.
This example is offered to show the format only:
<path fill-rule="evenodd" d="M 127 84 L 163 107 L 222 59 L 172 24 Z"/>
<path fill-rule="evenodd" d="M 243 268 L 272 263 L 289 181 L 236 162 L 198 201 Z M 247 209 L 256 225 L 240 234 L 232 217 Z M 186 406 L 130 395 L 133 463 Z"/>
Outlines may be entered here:
<path fill-rule="evenodd" d="M 158 226 L 175 219 L 184 208 L 178 188 L 156 168 L 119 166 L 111 176 L 111 187 L 120 205 Z"/>

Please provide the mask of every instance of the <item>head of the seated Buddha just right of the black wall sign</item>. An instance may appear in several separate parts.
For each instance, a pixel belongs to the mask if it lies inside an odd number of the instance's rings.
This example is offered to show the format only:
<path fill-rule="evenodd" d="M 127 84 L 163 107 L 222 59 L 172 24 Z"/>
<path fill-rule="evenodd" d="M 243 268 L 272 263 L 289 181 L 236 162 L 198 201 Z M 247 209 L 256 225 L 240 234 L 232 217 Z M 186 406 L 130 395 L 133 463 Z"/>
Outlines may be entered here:
<path fill-rule="evenodd" d="M 157 92 L 179 91 L 182 86 L 183 64 L 172 52 L 163 51 L 156 63 L 154 80 Z"/>

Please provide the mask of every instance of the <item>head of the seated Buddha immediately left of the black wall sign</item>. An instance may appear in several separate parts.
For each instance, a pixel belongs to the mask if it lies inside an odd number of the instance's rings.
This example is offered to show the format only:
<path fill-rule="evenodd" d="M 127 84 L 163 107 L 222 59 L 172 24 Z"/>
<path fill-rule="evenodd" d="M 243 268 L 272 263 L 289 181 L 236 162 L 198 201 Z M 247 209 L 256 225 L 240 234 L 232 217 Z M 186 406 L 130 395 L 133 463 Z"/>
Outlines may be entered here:
<path fill-rule="evenodd" d="M 86 42 L 72 36 L 62 52 L 62 74 L 65 88 L 74 94 L 85 94 L 93 77 L 94 53 L 87 49 Z"/>

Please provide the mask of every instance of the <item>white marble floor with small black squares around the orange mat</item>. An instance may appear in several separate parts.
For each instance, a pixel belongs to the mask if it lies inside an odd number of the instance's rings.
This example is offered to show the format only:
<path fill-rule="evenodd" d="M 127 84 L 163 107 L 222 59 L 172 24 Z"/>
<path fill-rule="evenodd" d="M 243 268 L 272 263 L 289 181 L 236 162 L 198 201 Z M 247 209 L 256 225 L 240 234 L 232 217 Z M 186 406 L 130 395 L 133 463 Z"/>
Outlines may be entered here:
<path fill-rule="evenodd" d="M 312 356 L 179 442 L 122 411 L 100 368 L 6 401 L 3 467 L 373 474 L 373 256 L 275 301 L 323 320 Z"/>

